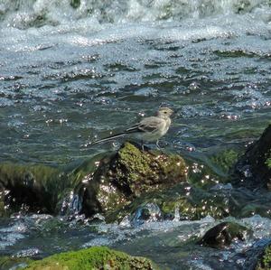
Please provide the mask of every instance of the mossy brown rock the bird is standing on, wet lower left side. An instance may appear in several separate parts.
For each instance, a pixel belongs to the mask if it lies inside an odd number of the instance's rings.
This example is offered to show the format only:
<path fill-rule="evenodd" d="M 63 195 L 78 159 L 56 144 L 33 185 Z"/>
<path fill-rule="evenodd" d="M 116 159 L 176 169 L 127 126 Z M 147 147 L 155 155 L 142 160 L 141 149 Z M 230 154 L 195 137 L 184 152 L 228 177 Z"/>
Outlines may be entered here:
<path fill-rule="evenodd" d="M 85 177 L 83 213 L 108 214 L 151 191 L 163 191 L 186 182 L 187 168 L 181 156 L 143 151 L 125 143 L 117 154 L 103 158 L 94 174 Z"/>

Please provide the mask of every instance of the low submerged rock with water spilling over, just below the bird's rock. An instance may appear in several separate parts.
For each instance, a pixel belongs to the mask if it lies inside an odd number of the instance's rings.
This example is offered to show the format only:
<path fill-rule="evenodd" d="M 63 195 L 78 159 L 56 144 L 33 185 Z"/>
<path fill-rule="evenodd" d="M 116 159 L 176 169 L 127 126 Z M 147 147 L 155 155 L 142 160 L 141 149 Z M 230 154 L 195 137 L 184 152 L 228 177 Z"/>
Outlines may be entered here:
<path fill-rule="evenodd" d="M 202 219 L 208 215 L 216 219 L 228 217 L 228 195 L 182 182 L 164 191 L 142 194 L 125 207 L 107 213 L 106 219 L 113 222 L 128 218 L 131 225 L 136 225 L 163 219 Z"/>

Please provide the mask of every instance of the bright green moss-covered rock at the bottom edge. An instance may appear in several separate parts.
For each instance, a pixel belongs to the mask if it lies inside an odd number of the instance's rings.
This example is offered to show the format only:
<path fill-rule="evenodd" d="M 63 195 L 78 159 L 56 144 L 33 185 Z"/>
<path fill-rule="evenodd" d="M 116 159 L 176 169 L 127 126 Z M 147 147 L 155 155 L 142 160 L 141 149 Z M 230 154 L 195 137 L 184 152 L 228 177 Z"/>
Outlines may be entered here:
<path fill-rule="evenodd" d="M 27 270 L 98 270 L 98 269 L 158 269 L 144 257 L 129 256 L 108 247 L 90 247 L 79 251 L 66 252 L 41 261 L 30 263 Z"/>

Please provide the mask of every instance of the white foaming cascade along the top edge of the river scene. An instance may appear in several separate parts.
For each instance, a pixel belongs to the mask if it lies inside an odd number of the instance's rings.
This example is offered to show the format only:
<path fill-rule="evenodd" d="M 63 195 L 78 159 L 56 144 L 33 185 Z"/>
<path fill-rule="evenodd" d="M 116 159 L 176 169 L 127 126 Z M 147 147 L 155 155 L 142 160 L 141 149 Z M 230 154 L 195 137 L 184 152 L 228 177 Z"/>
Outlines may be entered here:
<path fill-rule="evenodd" d="M 96 23 L 181 22 L 216 15 L 250 14 L 269 23 L 271 10 L 266 0 L 80 0 L 72 7 L 68 0 L 2 0 L 4 23 L 16 28 L 41 25 L 77 24 L 80 20 Z M 221 23 L 222 21 L 220 21 Z"/>

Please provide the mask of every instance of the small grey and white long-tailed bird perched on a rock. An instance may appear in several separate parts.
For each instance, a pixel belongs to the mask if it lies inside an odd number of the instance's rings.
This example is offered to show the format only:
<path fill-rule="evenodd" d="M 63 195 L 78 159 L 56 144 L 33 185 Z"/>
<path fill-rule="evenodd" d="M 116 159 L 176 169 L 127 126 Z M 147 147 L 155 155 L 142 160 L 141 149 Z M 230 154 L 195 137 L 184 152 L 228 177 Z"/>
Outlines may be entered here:
<path fill-rule="evenodd" d="M 172 114 L 173 110 L 171 108 L 160 107 L 156 112 L 156 116 L 145 117 L 139 123 L 127 128 L 124 132 L 110 135 L 106 138 L 92 142 L 89 145 L 107 142 L 125 135 L 135 135 L 142 142 L 156 142 L 157 147 L 160 148 L 158 141 L 167 133 L 169 126 L 172 123 L 170 118 Z"/>

